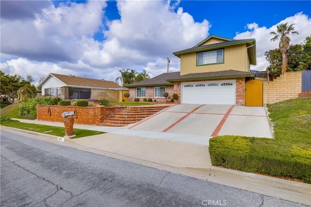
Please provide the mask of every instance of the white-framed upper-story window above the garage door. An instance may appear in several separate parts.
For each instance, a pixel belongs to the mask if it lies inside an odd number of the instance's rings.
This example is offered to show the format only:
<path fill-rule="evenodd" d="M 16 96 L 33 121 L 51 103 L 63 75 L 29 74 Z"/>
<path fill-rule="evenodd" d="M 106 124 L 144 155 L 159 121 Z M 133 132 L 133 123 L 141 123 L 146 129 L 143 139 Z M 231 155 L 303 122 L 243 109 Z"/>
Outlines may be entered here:
<path fill-rule="evenodd" d="M 197 53 L 197 64 L 217 64 L 224 62 L 224 49 Z"/>

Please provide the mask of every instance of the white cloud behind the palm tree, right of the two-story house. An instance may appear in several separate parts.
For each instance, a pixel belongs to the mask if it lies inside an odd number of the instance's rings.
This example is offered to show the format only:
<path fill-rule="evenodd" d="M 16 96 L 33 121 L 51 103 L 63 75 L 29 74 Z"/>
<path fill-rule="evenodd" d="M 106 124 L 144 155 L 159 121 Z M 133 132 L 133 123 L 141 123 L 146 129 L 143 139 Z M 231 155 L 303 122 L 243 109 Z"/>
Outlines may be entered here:
<path fill-rule="evenodd" d="M 302 44 L 307 36 L 311 34 L 311 18 L 303 14 L 302 12 L 289 16 L 284 20 L 276 23 L 270 28 L 259 27 L 257 23 L 247 24 L 249 31 L 237 33 L 234 39 L 256 39 L 257 47 L 257 65 L 251 66 L 254 70 L 265 70 L 268 66 L 268 62 L 265 60 L 264 53 L 270 49 L 278 48 L 279 40 L 271 42 L 270 39 L 273 35 L 270 32 L 276 32 L 276 26 L 281 23 L 294 24 L 295 31 L 299 32 L 299 35 L 290 35 L 291 44 Z"/>

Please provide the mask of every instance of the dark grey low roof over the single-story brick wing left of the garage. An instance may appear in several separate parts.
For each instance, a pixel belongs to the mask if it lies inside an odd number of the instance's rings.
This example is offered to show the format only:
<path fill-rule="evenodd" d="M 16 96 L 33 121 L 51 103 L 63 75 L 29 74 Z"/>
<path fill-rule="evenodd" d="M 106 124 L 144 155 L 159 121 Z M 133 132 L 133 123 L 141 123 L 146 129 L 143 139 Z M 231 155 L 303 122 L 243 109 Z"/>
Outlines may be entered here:
<path fill-rule="evenodd" d="M 161 85 L 173 85 L 172 82 L 168 82 L 168 79 L 174 79 L 180 76 L 180 72 L 172 72 L 172 73 L 162 73 L 161 75 L 155 76 L 152 79 L 139 81 L 136 83 L 131 83 L 126 85 L 126 87 L 140 87 L 140 86 L 161 86 Z"/>

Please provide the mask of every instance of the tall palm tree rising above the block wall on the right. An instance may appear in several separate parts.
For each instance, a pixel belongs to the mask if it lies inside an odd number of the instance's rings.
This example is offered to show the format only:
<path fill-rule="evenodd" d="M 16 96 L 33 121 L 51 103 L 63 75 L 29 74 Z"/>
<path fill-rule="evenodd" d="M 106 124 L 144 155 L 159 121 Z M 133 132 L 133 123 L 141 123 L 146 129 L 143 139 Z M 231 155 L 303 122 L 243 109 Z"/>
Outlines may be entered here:
<path fill-rule="evenodd" d="M 280 43 L 278 44 L 279 50 L 282 52 L 282 72 L 284 74 L 286 72 L 287 67 L 287 57 L 286 52 L 287 49 L 290 48 L 290 41 L 291 39 L 288 37 L 290 34 L 299 34 L 298 32 L 294 31 L 294 24 L 287 25 L 288 23 L 279 24 L 276 26 L 276 32 L 270 32 L 270 34 L 275 35 L 270 41 L 275 41 L 280 38 Z"/>

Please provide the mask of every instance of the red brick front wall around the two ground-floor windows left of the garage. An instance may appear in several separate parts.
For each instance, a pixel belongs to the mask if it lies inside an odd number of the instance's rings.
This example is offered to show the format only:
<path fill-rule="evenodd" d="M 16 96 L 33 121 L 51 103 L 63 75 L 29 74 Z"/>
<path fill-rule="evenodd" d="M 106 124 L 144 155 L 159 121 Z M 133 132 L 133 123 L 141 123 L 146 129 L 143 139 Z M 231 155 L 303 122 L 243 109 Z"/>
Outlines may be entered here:
<path fill-rule="evenodd" d="M 130 90 L 130 101 L 133 102 L 136 98 L 136 88 L 129 88 Z M 152 98 L 152 100 L 156 100 L 159 103 L 165 103 L 167 100 L 171 100 L 173 95 L 173 85 L 165 86 L 165 91 L 169 93 L 167 98 L 155 98 L 155 88 L 154 86 L 147 86 L 146 87 L 146 98 Z M 170 97 L 170 98 L 169 98 Z M 144 98 L 139 98 L 139 101 L 142 102 Z"/>

